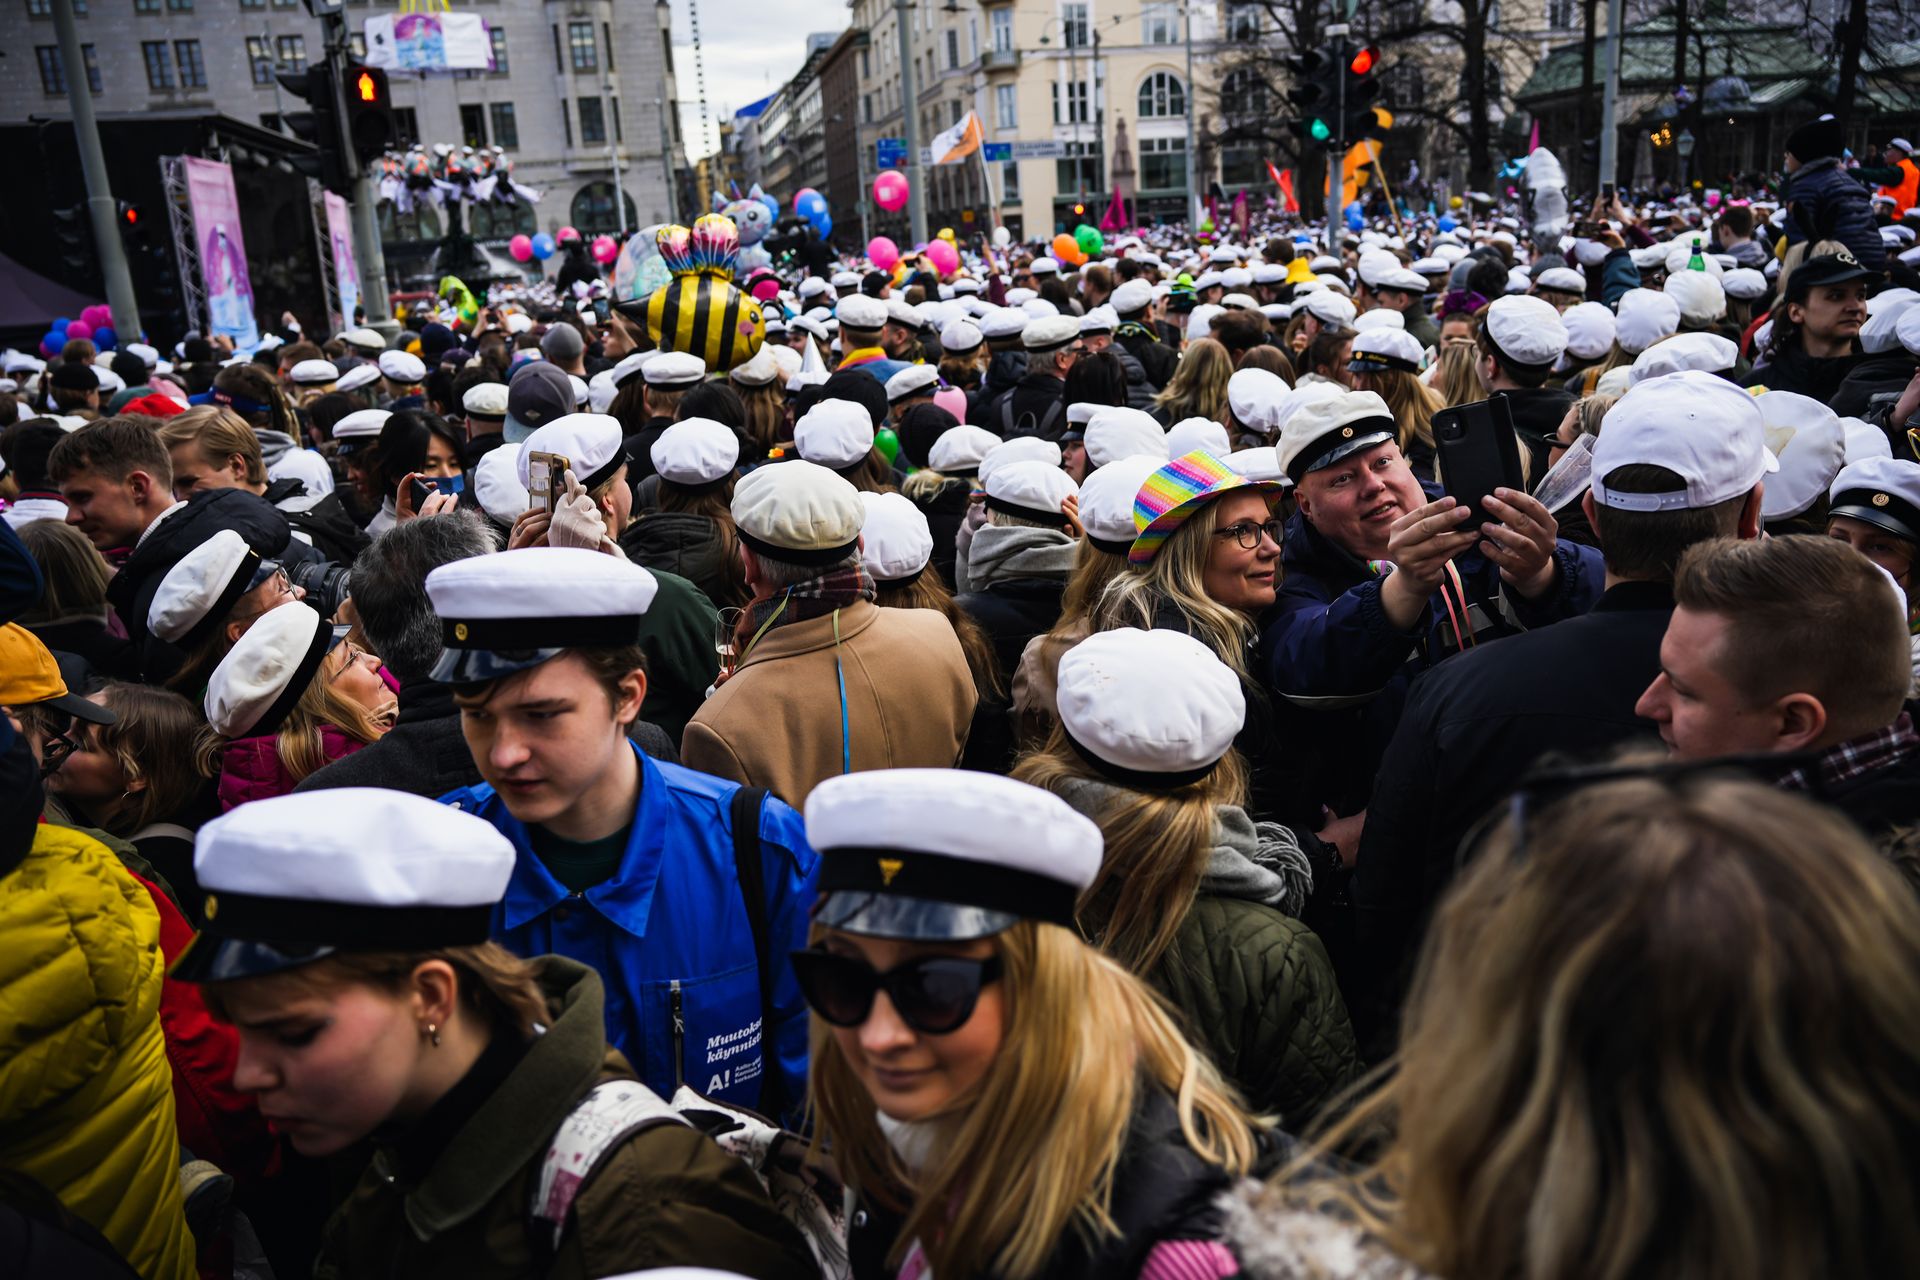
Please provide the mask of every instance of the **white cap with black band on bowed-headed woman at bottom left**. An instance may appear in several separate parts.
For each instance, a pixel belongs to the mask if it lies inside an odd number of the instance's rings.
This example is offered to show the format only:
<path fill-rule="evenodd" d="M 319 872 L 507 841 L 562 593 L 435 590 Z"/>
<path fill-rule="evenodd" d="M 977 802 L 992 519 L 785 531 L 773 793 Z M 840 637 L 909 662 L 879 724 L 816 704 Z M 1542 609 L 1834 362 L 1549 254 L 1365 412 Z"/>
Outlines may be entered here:
<path fill-rule="evenodd" d="M 207 921 L 171 977 L 228 983 L 338 952 L 486 942 L 513 842 L 424 796 L 348 787 L 215 818 L 194 839 L 194 875 Z"/>

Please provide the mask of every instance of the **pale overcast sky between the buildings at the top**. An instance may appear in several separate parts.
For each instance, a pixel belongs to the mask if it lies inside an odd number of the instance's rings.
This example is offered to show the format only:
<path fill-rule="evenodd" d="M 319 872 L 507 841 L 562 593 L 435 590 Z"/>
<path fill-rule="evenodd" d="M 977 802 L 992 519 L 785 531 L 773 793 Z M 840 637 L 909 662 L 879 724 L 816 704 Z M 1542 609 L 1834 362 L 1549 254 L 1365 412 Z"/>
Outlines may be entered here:
<path fill-rule="evenodd" d="M 680 132 L 687 155 L 714 150 L 720 121 L 787 83 L 806 61 L 806 36 L 845 31 L 845 0 L 701 0 L 701 54 L 707 63 L 708 129 L 701 138 L 701 81 L 693 61 L 691 0 L 674 6 L 674 73 L 680 79 Z"/>

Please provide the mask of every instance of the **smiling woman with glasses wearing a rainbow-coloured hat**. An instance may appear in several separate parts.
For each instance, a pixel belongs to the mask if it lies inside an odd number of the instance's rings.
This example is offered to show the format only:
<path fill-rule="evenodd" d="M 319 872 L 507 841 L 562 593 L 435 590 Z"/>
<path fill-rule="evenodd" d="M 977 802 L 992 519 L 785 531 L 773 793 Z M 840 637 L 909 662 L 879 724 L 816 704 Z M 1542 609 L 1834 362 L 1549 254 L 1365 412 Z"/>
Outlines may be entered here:
<path fill-rule="evenodd" d="M 1281 486 L 1248 480 L 1206 453 L 1173 459 L 1140 486 L 1129 572 L 1094 606 L 1094 631 L 1162 628 L 1192 635 L 1240 677 L 1246 727 L 1235 739 L 1254 768 L 1250 812 L 1300 825 L 1317 810 L 1288 793 L 1271 702 L 1252 679 L 1256 620 L 1281 581 Z"/>

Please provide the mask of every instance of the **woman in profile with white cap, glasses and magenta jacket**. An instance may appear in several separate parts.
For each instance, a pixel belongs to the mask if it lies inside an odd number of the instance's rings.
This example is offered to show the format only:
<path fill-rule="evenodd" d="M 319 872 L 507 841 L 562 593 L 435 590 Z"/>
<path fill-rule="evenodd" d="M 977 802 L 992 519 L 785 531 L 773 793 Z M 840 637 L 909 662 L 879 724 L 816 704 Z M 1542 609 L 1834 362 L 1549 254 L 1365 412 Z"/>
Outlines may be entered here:
<path fill-rule="evenodd" d="M 301 603 L 267 610 L 207 681 L 221 748 L 221 810 L 280 796 L 394 727 L 380 658 Z"/>

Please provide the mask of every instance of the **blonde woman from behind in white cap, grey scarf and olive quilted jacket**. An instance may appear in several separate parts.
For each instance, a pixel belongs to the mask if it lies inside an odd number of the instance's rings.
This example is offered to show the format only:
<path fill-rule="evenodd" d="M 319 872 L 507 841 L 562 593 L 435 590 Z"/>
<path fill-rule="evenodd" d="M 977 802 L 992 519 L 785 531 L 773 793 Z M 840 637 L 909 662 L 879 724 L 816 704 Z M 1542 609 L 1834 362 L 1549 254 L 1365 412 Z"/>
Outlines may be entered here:
<path fill-rule="evenodd" d="M 1238 676 L 1190 635 L 1119 628 L 1060 660 L 1058 706 L 1014 777 L 1100 825 L 1081 933 L 1165 996 L 1254 1111 L 1300 1132 L 1361 1067 L 1327 950 L 1298 921 L 1308 854 L 1242 808 Z"/>

